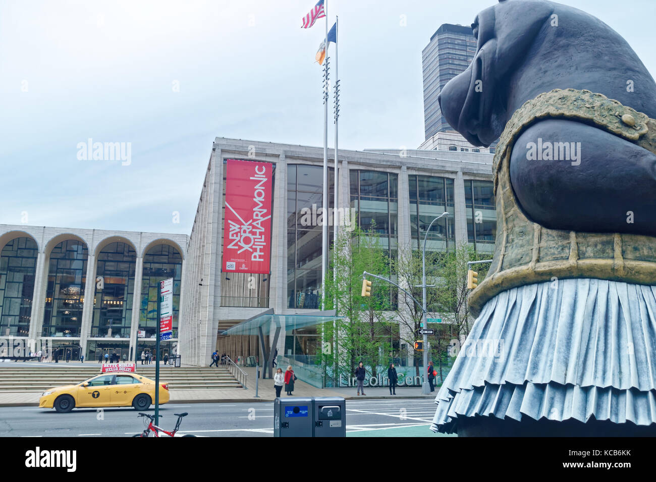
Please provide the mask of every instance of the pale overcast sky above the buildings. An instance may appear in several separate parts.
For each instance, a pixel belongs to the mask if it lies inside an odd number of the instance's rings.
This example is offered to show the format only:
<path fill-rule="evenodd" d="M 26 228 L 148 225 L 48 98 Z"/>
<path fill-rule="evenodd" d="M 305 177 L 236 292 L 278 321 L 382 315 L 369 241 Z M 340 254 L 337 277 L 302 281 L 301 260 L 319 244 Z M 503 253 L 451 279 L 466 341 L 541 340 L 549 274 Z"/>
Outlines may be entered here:
<path fill-rule="evenodd" d="M 216 136 L 323 145 L 315 3 L 0 0 L 0 224 L 189 234 Z M 422 49 L 494 3 L 328 0 L 340 148 L 417 148 Z M 656 1 L 564 3 L 656 72 Z M 78 159 L 89 138 L 130 143 L 131 163 Z"/>

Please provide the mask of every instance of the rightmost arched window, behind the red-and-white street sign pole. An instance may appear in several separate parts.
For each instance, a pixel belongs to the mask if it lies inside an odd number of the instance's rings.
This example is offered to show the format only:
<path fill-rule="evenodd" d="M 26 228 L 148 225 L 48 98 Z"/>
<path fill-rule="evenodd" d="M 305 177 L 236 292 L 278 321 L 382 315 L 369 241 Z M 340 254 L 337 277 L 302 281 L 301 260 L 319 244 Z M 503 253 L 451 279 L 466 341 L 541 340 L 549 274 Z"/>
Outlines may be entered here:
<path fill-rule="evenodd" d="M 173 338 L 178 338 L 180 313 L 180 282 L 182 256 L 169 245 L 152 247 L 144 256 L 141 278 L 141 305 L 139 311 L 139 338 L 155 338 L 157 332 L 157 293 L 159 281 L 173 278 Z"/>

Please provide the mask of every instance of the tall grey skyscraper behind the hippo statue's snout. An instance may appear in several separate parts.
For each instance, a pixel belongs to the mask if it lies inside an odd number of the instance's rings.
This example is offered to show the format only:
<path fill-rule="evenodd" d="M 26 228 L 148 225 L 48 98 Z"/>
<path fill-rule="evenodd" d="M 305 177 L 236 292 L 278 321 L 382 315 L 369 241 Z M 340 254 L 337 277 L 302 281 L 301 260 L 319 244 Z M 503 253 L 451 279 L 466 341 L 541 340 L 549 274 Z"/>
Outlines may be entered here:
<path fill-rule="evenodd" d="M 438 95 L 447 82 L 464 71 L 476 54 L 476 38 L 471 27 L 442 24 L 422 51 L 424 77 L 424 134 L 420 149 L 494 152 L 476 148 L 447 123 Z"/>

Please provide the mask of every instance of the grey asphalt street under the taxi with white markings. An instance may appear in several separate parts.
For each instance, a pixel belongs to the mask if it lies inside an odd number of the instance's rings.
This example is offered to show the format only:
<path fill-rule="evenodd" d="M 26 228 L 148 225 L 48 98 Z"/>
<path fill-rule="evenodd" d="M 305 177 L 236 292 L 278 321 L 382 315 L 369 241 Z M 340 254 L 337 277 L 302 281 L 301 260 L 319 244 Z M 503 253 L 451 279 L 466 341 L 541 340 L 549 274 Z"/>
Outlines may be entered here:
<path fill-rule="evenodd" d="M 348 400 L 346 431 L 373 437 L 399 428 L 425 428 L 432 433 L 428 425 L 435 407 L 431 399 Z M 159 426 L 173 429 L 177 420 L 173 414 L 179 412 L 189 413 L 180 426 L 182 434 L 273 437 L 272 402 L 166 404 L 160 409 Z M 0 437 L 127 437 L 142 432 L 142 420 L 130 408 L 74 409 L 62 414 L 37 407 L 2 407 Z"/>

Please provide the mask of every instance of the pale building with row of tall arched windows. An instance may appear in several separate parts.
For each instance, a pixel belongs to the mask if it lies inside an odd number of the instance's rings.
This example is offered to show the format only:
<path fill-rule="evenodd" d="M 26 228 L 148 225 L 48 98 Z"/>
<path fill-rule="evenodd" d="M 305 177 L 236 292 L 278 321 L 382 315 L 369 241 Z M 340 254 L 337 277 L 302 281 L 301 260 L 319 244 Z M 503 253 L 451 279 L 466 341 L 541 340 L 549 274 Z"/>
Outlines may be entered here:
<path fill-rule="evenodd" d="M 0 350 L 138 359 L 154 351 L 155 285 L 170 276 L 174 336 L 163 350 L 173 353 L 187 244 L 179 234 L 0 225 Z"/>

